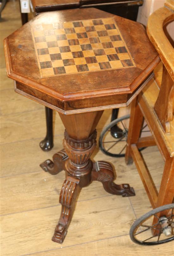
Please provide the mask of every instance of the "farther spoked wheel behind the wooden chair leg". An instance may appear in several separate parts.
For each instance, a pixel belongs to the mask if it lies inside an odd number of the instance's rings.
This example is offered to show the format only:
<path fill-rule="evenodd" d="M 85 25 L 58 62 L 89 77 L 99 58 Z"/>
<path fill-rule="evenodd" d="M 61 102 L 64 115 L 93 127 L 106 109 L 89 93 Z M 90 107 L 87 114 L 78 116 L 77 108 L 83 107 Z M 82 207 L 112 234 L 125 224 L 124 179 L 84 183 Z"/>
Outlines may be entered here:
<path fill-rule="evenodd" d="M 109 125 L 104 127 L 99 138 L 99 147 L 101 151 L 111 157 L 124 157 L 127 145 L 127 133 L 130 115 L 125 115 L 115 119 Z M 116 127 L 117 138 L 110 131 Z M 147 125 L 143 126 L 141 132 L 147 132 Z M 140 148 L 139 150 L 143 150 Z"/>

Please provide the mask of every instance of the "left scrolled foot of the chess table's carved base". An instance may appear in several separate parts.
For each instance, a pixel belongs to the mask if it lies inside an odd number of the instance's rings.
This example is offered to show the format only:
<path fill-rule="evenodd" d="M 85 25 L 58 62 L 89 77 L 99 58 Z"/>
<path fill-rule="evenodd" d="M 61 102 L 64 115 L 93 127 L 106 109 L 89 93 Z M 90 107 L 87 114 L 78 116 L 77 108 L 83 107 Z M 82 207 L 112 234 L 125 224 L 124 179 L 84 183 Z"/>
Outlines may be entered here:
<path fill-rule="evenodd" d="M 65 170 L 65 161 L 68 159 L 68 156 L 64 149 L 60 150 L 56 154 L 53 155 L 53 161 L 47 159 L 43 163 L 40 164 L 40 167 L 50 174 L 57 174 L 62 170 Z"/>

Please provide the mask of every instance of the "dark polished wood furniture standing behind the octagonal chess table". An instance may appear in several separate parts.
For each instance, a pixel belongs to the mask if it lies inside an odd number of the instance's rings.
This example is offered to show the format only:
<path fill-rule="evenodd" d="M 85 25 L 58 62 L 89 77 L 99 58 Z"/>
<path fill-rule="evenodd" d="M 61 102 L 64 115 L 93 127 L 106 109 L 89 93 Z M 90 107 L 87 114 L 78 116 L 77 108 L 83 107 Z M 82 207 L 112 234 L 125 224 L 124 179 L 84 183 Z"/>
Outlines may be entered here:
<path fill-rule="evenodd" d="M 134 21 L 137 19 L 138 8 L 142 5 L 142 3 L 143 1 L 141 0 L 32 0 L 36 15 L 45 11 L 86 8 L 93 6 L 100 10 L 108 11 L 109 13 L 113 13 L 115 15 Z M 27 21 L 28 15 L 22 14 L 22 24 L 25 24 Z M 118 110 L 119 109 L 112 111 L 112 119 L 117 118 Z M 45 107 L 45 112 L 47 132 L 46 137 L 40 142 L 40 148 L 44 151 L 48 151 L 53 147 L 53 111 L 52 109 Z M 118 131 L 119 128 L 117 125 L 111 129 L 113 136 L 119 136 Z"/>

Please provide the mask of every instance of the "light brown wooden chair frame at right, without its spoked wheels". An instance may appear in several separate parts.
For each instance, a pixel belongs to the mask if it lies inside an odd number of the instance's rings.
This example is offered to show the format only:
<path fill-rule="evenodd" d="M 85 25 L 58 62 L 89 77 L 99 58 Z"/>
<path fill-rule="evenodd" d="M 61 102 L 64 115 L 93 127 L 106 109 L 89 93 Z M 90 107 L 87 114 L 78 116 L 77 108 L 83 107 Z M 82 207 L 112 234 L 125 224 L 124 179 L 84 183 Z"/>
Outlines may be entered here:
<path fill-rule="evenodd" d="M 134 160 L 153 208 L 171 204 L 174 199 L 174 51 L 163 31 L 165 24 L 174 20 L 171 3 L 167 1 L 165 7 L 155 11 L 148 20 L 148 36 L 163 62 L 162 83 L 159 88 L 152 81 L 132 102 L 127 139 L 126 163 Z M 152 137 L 140 138 L 143 117 Z M 152 145 L 158 146 L 165 161 L 159 193 L 138 151 L 139 147 Z M 153 224 L 157 221 L 154 217 Z"/>

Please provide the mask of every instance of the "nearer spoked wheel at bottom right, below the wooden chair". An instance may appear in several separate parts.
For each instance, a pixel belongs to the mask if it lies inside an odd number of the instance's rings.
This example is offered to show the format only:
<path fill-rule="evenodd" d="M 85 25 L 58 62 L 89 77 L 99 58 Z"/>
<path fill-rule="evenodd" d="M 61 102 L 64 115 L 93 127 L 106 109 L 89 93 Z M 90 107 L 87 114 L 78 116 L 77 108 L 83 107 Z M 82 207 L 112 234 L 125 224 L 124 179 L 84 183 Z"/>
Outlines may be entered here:
<path fill-rule="evenodd" d="M 158 221 L 152 225 L 154 217 Z M 134 222 L 129 232 L 130 238 L 139 245 L 159 245 L 170 242 L 174 240 L 173 220 L 174 204 L 160 206 Z"/>

